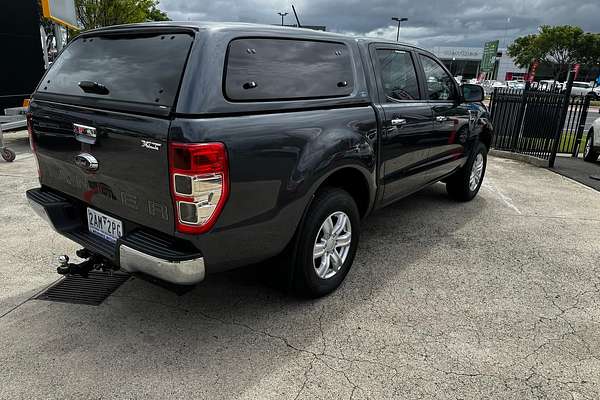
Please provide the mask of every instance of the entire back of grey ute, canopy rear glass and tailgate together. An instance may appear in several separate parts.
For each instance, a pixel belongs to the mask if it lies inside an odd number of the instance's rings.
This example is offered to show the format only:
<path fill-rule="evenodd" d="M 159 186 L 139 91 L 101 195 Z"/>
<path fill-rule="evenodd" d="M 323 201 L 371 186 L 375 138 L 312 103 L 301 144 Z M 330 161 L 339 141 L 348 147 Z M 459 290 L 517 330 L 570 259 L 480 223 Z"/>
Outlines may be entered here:
<path fill-rule="evenodd" d="M 30 106 L 42 185 L 172 234 L 167 140 L 193 40 L 175 28 L 73 40 Z"/>

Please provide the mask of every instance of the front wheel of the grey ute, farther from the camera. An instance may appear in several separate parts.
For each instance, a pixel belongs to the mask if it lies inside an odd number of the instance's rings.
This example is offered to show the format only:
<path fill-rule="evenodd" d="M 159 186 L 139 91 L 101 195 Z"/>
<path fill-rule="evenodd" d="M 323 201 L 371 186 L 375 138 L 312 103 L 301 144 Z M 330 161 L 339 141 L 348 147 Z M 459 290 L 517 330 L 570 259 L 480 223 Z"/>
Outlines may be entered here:
<path fill-rule="evenodd" d="M 481 188 L 486 165 L 487 148 L 478 142 L 465 166 L 446 181 L 448 195 L 458 201 L 472 200 Z"/>

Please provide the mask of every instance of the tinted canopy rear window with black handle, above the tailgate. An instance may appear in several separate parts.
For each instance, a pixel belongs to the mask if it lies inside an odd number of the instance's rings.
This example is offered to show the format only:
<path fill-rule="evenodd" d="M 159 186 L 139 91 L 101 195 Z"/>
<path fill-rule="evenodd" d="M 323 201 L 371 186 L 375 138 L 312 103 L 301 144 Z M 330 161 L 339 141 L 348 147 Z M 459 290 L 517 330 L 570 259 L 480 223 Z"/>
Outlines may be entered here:
<path fill-rule="evenodd" d="M 192 41 L 185 33 L 81 37 L 58 57 L 38 93 L 172 107 Z"/>

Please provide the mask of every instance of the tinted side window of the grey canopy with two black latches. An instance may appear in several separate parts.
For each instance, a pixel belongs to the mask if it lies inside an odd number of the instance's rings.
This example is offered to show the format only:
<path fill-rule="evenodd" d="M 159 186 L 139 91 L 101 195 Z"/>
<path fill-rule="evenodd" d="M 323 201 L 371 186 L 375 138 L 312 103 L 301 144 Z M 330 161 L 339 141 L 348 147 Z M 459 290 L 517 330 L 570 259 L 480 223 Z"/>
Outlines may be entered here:
<path fill-rule="evenodd" d="M 354 90 L 352 58 L 338 42 L 235 39 L 227 50 L 223 89 L 231 101 L 348 96 Z"/>

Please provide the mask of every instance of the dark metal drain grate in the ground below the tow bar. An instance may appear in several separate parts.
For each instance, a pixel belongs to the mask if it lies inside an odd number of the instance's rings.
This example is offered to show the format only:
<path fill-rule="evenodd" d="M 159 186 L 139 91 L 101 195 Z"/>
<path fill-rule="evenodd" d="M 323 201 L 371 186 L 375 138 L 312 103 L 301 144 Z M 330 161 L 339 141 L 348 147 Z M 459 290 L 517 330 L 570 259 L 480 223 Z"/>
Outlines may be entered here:
<path fill-rule="evenodd" d="M 68 275 L 36 297 L 37 300 L 98 306 L 129 279 L 129 274 L 92 271 L 87 278 Z"/>

